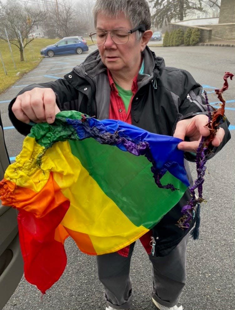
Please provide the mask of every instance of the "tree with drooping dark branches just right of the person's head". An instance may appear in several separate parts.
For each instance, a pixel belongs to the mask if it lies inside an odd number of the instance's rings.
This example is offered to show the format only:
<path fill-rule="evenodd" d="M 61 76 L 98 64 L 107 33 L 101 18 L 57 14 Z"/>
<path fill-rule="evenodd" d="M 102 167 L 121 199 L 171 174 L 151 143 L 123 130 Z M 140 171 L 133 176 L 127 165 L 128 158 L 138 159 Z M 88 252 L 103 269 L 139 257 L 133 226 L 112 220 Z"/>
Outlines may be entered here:
<path fill-rule="evenodd" d="M 150 0 L 154 13 L 152 21 L 154 26 L 162 27 L 163 23 L 169 23 L 172 19 L 183 20 L 192 11 L 203 11 L 201 0 Z"/>

